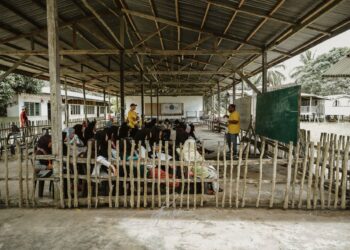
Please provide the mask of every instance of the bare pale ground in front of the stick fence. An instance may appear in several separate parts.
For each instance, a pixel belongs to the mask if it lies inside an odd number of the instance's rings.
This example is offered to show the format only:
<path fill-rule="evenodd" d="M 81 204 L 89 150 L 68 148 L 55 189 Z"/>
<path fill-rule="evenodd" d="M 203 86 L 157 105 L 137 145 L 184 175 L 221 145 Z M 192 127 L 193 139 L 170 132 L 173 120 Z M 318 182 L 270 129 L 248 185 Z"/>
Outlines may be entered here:
<path fill-rule="evenodd" d="M 0 212 L 0 249 L 350 249 L 350 211 Z"/>

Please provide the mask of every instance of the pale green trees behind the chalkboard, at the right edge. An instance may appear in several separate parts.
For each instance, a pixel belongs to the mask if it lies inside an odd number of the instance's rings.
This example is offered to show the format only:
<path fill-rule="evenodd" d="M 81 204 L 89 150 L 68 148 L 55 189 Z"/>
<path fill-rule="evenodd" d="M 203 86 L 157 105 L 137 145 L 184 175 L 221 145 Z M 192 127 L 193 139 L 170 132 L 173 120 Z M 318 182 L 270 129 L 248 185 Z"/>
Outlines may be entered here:
<path fill-rule="evenodd" d="M 350 94 L 350 79 L 323 78 L 322 74 L 341 58 L 350 53 L 350 48 L 333 48 L 315 58 L 307 51 L 300 55 L 303 65 L 293 69 L 291 77 L 302 87 L 302 92 L 318 95 Z"/>

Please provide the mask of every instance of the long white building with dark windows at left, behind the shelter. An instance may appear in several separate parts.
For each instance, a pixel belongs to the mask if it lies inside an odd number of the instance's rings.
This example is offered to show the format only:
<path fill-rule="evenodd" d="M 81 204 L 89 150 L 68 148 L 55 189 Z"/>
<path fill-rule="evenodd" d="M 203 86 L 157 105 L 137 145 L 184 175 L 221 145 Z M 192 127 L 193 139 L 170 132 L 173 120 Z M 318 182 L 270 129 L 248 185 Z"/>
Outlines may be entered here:
<path fill-rule="evenodd" d="M 62 95 L 62 122 L 65 121 L 65 91 Z M 67 91 L 69 120 L 84 119 L 83 93 Z M 13 98 L 7 107 L 8 117 L 19 117 L 22 106 L 27 107 L 27 115 L 30 121 L 50 120 L 50 87 L 43 87 L 39 94 L 20 94 Z M 104 104 L 103 96 L 86 94 L 86 111 L 88 118 L 103 117 L 105 107 L 108 109 L 108 101 Z"/>

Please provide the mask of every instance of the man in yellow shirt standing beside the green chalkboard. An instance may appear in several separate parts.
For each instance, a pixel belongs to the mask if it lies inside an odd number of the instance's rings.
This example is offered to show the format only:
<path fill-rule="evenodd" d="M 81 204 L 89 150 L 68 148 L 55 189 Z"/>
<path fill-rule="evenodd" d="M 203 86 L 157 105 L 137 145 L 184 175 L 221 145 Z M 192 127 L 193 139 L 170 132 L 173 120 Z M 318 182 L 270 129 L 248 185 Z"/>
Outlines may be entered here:
<path fill-rule="evenodd" d="M 240 116 L 236 111 L 236 105 L 230 104 L 228 106 L 228 112 L 230 116 L 227 121 L 227 133 L 226 133 L 226 142 L 228 147 L 231 148 L 231 143 L 233 144 L 233 155 L 237 157 L 237 137 L 241 130 L 240 128 Z"/>

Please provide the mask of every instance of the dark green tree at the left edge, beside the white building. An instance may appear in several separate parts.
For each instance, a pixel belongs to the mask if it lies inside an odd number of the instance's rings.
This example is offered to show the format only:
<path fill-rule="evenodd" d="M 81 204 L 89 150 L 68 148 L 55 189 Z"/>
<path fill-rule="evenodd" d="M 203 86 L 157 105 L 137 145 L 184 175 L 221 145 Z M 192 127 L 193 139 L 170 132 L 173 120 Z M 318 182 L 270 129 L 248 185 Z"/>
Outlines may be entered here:
<path fill-rule="evenodd" d="M 2 74 L 3 72 L 1 72 Z M 16 94 L 37 94 L 43 81 L 19 74 L 10 74 L 0 82 L 0 116 L 6 116 L 6 108 Z"/>

